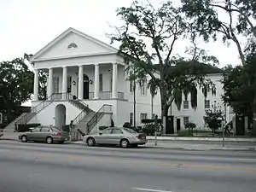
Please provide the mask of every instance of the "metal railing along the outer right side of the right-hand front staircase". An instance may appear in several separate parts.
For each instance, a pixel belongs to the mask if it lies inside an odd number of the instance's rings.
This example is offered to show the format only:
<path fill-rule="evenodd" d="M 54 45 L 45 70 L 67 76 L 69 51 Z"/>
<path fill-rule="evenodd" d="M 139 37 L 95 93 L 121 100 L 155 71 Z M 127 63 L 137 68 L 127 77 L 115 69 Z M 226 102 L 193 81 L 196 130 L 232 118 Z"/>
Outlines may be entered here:
<path fill-rule="evenodd" d="M 93 127 L 102 119 L 102 116 L 105 113 L 112 113 L 112 105 L 104 104 L 102 108 L 100 108 L 95 115 L 88 121 L 87 123 L 87 132 L 89 133 Z"/>

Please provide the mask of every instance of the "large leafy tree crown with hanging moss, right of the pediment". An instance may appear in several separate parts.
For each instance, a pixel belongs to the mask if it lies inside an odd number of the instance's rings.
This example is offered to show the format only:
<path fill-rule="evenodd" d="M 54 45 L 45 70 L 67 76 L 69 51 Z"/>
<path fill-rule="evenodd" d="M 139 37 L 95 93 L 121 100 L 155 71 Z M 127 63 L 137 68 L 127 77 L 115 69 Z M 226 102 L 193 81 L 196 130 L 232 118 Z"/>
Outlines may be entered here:
<path fill-rule="evenodd" d="M 154 96 L 160 91 L 162 116 L 167 115 L 172 102 L 180 108 L 182 93 L 186 97 L 191 95 L 192 107 L 196 108 L 196 86 L 205 87 L 212 83 L 206 82 L 206 73 L 201 71 L 198 61 L 177 59 L 172 55 L 177 39 L 188 35 L 189 25 L 184 22 L 183 13 L 172 6 L 171 1 L 158 9 L 150 3 L 135 1 L 128 8 L 119 8 L 117 15 L 124 25 L 116 27 L 117 32 L 111 35 L 111 41 L 120 44 L 129 80 L 141 84 L 150 78 L 148 87 L 151 94 Z M 160 76 L 156 76 L 156 72 Z"/>

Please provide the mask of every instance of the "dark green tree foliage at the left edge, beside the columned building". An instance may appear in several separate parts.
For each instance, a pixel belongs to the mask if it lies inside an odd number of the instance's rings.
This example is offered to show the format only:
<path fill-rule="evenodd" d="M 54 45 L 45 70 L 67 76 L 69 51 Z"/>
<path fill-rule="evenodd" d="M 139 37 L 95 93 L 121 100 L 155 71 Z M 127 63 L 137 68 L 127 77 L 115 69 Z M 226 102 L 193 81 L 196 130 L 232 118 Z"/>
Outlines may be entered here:
<path fill-rule="evenodd" d="M 1 107 L 9 113 L 21 103 L 30 99 L 33 91 L 33 73 L 26 65 L 25 58 L 0 63 Z"/>

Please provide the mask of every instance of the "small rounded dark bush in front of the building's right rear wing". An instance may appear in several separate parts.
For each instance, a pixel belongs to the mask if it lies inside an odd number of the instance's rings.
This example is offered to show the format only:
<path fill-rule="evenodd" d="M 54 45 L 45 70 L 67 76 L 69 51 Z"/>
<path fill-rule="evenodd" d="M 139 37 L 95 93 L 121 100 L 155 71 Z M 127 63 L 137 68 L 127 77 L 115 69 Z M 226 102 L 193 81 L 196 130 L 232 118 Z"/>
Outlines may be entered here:
<path fill-rule="evenodd" d="M 215 131 L 221 127 L 223 115 L 223 111 L 218 108 L 206 110 L 206 115 L 203 117 L 203 119 L 213 133 L 215 133 Z"/>

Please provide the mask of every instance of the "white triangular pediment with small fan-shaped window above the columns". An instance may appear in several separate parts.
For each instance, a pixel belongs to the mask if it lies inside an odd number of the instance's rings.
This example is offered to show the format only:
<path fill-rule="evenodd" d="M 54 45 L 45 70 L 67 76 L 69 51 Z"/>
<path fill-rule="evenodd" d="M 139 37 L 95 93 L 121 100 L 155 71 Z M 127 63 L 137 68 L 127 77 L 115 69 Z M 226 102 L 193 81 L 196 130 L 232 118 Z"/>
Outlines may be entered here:
<path fill-rule="evenodd" d="M 117 53 L 118 49 L 92 38 L 89 35 L 79 32 L 76 29 L 68 28 L 57 38 L 39 50 L 32 57 L 32 61 L 63 58 L 75 55 L 100 55 Z"/>

